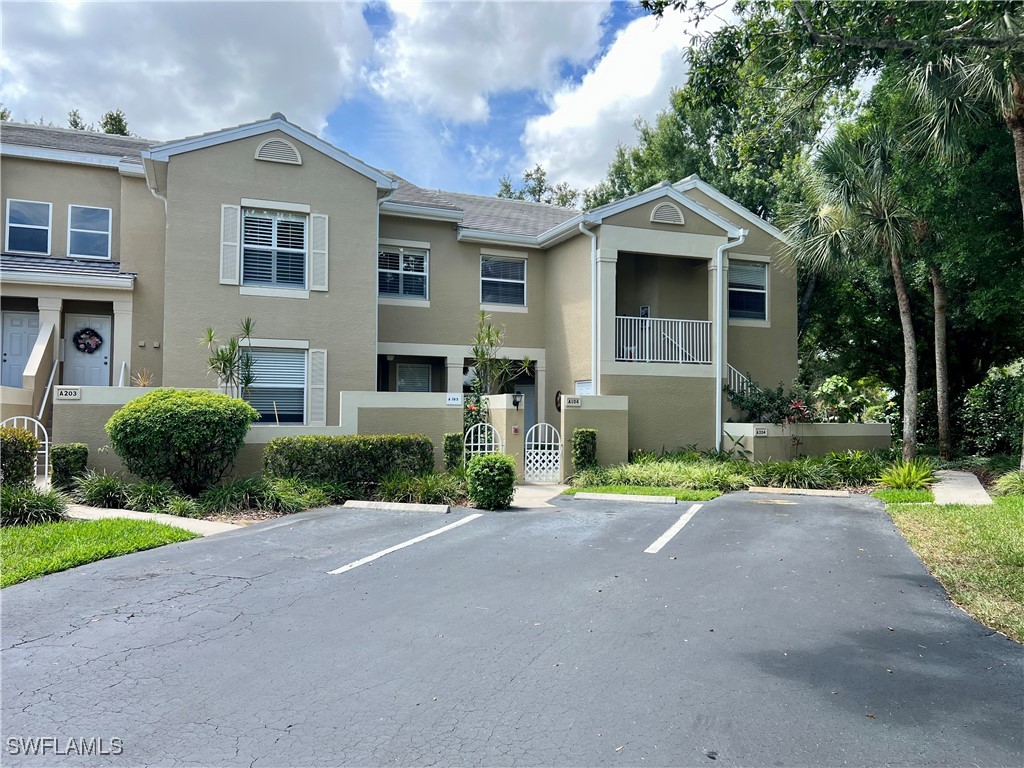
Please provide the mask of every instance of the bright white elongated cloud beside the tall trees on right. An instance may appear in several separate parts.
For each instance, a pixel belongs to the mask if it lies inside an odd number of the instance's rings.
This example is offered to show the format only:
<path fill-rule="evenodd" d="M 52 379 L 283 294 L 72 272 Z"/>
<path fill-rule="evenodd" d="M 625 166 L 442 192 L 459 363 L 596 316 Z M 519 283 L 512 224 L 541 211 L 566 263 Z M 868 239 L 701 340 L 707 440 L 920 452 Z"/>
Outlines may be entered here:
<path fill-rule="evenodd" d="M 624 28 L 582 82 L 556 90 L 550 112 L 527 121 L 524 167 L 540 163 L 550 179 L 573 186 L 600 181 L 616 144 L 636 140 L 636 118 L 652 120 L 683 84 L 691 32 L 682 13 L 660 22 L 643 16 Z"/>

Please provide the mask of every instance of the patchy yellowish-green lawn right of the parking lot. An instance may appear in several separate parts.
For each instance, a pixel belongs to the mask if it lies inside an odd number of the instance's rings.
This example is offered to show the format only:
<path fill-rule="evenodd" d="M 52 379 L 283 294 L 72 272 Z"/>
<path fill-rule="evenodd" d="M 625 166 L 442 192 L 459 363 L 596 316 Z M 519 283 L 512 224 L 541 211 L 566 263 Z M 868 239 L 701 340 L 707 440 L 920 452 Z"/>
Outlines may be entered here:
<path fill-rule="evenodd" d="M 996 498 L 994 507 L 890 506 L 889 514 L 953 602 L 1024 642 L 1024 496 Z"/>

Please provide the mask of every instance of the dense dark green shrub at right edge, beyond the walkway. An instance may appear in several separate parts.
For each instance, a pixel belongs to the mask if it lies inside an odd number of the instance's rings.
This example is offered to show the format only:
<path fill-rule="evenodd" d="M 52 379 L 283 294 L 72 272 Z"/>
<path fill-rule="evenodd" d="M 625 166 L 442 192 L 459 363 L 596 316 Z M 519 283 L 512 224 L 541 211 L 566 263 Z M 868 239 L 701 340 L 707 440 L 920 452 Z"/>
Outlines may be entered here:
<path fill-rule="evenodd" d="M 972 454 L 1021 453 L 1024 361 L 989 372 L 971 387 L 961 411 L 963 447 Z"/>

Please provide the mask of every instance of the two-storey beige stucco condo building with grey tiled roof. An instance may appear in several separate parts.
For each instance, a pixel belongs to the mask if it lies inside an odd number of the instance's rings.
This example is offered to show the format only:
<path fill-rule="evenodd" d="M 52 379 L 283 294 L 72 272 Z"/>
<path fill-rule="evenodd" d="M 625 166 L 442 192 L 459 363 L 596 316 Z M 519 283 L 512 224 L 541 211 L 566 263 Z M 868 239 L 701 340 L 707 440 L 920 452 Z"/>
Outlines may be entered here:
<path fill-rule="evenodd" d="M 345 393 L 462 393 L 481 310 L 531 360 L 527 428 L 622 395 L 631 449 L 714 446 L 722 382 L 797 374 L 780 233 L 696 177 L 587 212 L 424 189 L 275 114 L 166 143 L 4 123 L 0 178 L 4 416 L 215 387 L 200 340 L 243 317 L 250 399 L 310 429 Z"/>

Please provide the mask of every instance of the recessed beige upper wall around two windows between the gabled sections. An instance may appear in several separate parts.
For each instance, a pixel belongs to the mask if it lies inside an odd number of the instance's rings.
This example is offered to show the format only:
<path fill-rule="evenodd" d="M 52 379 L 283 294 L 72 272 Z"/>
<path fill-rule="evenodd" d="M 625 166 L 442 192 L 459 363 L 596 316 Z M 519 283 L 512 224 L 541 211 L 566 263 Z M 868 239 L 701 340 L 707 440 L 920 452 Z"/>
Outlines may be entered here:
<path fill-rule="evenodd" d="M 480 313 L 480 256 L 526 260 L 526 311 L 488 305 L 493 322 L 505 326 L 505 344 L 543 347 L 547 295 L 543 251 L 460 243 L 455 224 L 381 217 L 381 240 L 429 247 L 429 306 L 423 301 L 385 297 L 379 307 L 380 340 L 416 344 L 472 344 Z M 415 247 L 415 246 L 411 246 Z M 376 262 L 375 262 L 376 266 Z M 374 289 L 376 292 L 376 288 Z"/>

